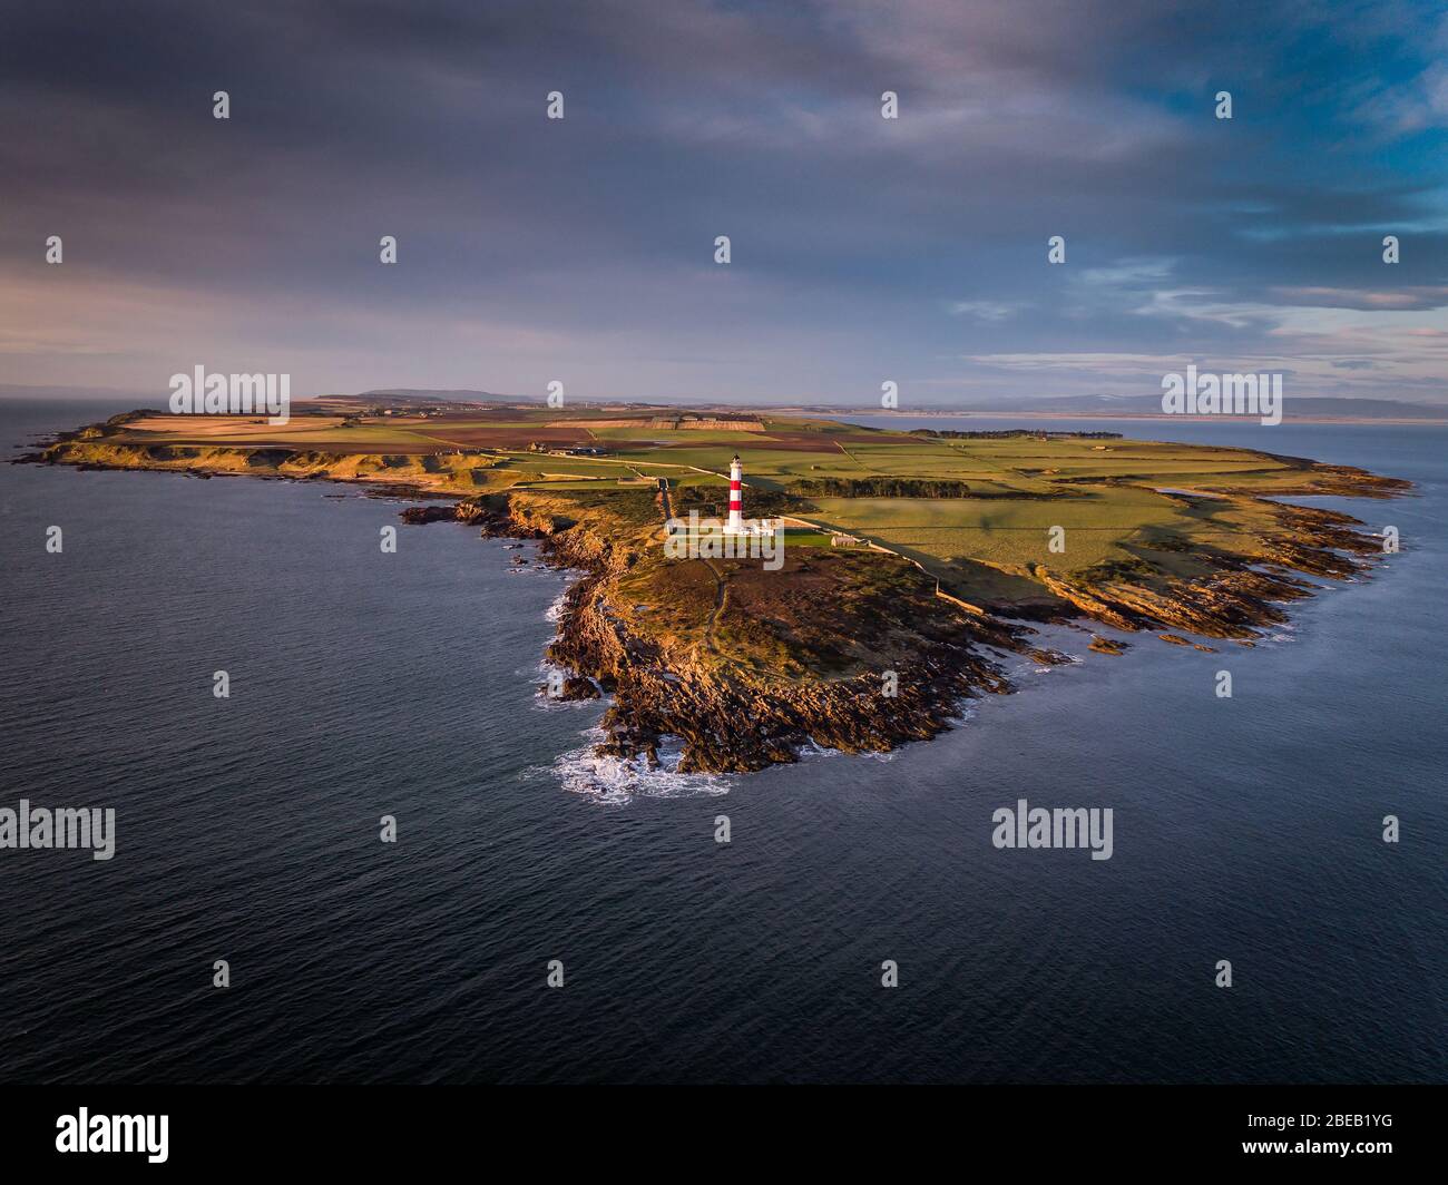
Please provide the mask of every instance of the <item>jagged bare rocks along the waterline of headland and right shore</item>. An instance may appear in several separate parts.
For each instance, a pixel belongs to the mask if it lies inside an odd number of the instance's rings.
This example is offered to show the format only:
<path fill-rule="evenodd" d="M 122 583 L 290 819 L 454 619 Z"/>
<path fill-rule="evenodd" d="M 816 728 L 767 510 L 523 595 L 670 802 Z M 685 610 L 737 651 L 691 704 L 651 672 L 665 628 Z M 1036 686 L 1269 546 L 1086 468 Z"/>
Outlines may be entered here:
<path fill-rule="evenodd" d="M 846 753 L 886 752 L 951 727 L 964 700 L 1014 691 L 990 652 L 1019 653 L 1045 665 L 1069 661 L 1034 646 L 1034 630 L 1021 621 L 957 613 L 948 624 L 940 623 L 946 629 L 935 645 L 915 655 L 909 677 L 899 677 L 893 695 L 882 692 L 877 672 L 770 685 L 738 672 L 681 663 L 647 636 L 631 633 L 611 604 L 614 581 L 631 564 L 627 549 L 586 526 L 550 530 L 513 500 L 502 503 L 463 501 L 452 513 L 414 507 L 403 514 L 408 522 L 455 519 L 481 524 L 484 535 L 539 539 L 547 562 L 584 574 L 565 594 L 547 656 L 573 672 L 557 698 L 595 698 L 599 691 L 613 697 L 602 719 L 601 755 L 653 763 L 660 743 L 678 737 L 683 742 L 681 772 L 747 772 L 794 762 L 809 745 Z M 1125 633 L 1156 632 L 1164 642 L 1202 652 L 1215 648 L 1170 630 L 1251 646 L 1263 629 L 1287 620 L 1283 603 L 1313 594 L 1315 587 L 1290 571 L 1341 579 L 1364 572 L 1370 565 L 1363 556 L 1380 552 L 1378 540 L 1354 530 L 1350 516 L 1289 506 L 1280 514 L 1296 537 L 1274 549 L 1271 565 L 1281 569 L 1276 572 L 1219 555 L 1213 559 L 1216 575 L 1151 590 L 1125 579 L 1087 584 L 1038 569 L 1064 604 L 1054 620 L 1087 619 Z M 930 613 L 934 607 L 919 608 Z M 1092 637 L 1089 649 L 1096 653 L 1119 655 L 1128 646 Z M 749 727 L 740 729 L 738 721 Z"/>

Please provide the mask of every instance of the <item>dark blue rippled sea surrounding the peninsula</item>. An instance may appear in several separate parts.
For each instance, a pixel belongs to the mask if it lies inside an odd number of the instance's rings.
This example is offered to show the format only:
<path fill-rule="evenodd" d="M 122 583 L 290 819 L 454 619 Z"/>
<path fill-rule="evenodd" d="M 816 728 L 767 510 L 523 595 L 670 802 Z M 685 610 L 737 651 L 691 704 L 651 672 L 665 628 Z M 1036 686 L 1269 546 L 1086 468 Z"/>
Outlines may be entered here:
<path fill-rule="evenodd" d="M 116 410 L 0 403 L 0 443 Z M 0 850 L 0 1081 L 1448 1079 L 1448 430 L 1109 427 L 1410 478 L 1313 500 L 1403 552 L 1255 649 L 1063 632 L 933 743 L 728 778 L 588 758 L 527 549 L 0 465 L 0 807 L 116 810 L 107 862 Z M 1111 807 L 1112 859 L 992 847 L 1019 798 Z"/>

